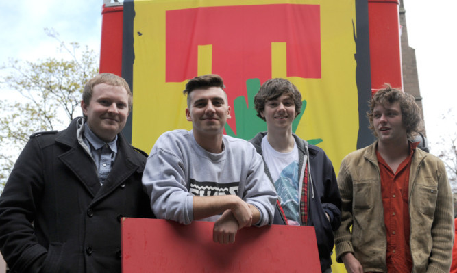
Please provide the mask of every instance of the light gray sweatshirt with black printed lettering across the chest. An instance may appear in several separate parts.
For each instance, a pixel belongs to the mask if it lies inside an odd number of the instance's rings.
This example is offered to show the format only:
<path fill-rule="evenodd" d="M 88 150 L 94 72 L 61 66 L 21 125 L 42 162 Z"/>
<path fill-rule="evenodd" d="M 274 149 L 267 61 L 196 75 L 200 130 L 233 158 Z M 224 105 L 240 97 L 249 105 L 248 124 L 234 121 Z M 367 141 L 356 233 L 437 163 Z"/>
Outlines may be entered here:
<path fill-rule="evenodd" d="M 192 131 L 160 135 L 143 173 L 143 188 L 157 218 L 190 224 L 194 195 L 236 194 L 260 211 L 257 226 L 273 222 L 277 195 L 264 174 L 262 157 L 245 140 L 223 135 L 223 144 L 223 152 L 214 154 L 197 144 Z"/>

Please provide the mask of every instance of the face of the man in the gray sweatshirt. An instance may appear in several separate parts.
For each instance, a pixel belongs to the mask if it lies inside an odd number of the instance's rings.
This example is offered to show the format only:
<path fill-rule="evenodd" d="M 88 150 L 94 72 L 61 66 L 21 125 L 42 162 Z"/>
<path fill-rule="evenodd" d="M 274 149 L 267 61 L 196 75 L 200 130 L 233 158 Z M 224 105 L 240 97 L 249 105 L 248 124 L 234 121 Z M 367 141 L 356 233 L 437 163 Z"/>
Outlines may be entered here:
<path fill-rule="evenodd" d="M 192 121 L 194 134 L 222 134 L 225 122 L 230 118 L 225 92 L 219 87 L 193 90 L 186 116 L 188 121 Z"/>

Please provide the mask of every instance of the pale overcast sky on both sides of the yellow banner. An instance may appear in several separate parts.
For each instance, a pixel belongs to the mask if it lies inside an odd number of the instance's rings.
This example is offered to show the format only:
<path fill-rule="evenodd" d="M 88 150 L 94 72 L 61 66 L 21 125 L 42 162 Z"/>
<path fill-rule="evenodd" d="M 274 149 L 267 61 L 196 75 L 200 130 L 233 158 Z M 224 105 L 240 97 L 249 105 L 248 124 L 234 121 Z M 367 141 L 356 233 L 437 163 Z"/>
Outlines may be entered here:
<path fill-rule="evenodd" d="M 45 34 L 45 27 L 58 31 L 65 42 L 87 44 L 98 53 L 102 5 L 102 0 L 0 1 L 0 64 L 8 57 L 34 61 L 58 54 L 58 43 Z M 441 117 L 449 110 L 455 115 L 457 101 L 457 1 L 404 0 L 404 7 L 410 47 L 416 50 L 425 125 L 432 153 L 437 153 L 441 136 L 456 134 L 455 118 Z M 6 90 L 0 92 L 8 97 Z"/>

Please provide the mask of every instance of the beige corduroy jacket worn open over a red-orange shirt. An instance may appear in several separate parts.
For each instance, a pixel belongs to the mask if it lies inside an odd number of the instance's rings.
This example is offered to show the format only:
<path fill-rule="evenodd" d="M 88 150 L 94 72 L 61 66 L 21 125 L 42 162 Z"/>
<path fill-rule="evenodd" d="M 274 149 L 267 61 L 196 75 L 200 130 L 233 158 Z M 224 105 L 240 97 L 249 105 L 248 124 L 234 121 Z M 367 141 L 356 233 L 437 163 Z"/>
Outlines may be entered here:
<path fill-rule="evenodd" d="M 365 272 L 387 272 L 386 229 L 378 142 L 350 153 L 338 174 L 341 226 L 335 232 L 336 261 L 352 252 Z M 454 242 L 454 206 L 443 162 L 415 149 L 409 181 L 412 272 L 449 272 Z M 352 232 L 350 227 L 352 226 Z"/>

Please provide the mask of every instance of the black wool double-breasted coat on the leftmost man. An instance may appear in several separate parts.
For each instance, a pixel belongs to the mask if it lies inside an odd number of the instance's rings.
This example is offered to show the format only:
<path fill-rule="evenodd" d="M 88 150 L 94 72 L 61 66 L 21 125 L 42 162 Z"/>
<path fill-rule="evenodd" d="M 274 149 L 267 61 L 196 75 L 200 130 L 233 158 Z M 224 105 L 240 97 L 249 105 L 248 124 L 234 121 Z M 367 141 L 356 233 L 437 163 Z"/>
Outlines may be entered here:
<path fill-rule="evenodd" d="M 118 135 L 118 153 L 100 187 L 76 138 L 32 135 L 0 196 L 0 250 L 10 272 L 121 272 L 121 218 L 153 217 L 142 190 L 145 155 Z"/>

